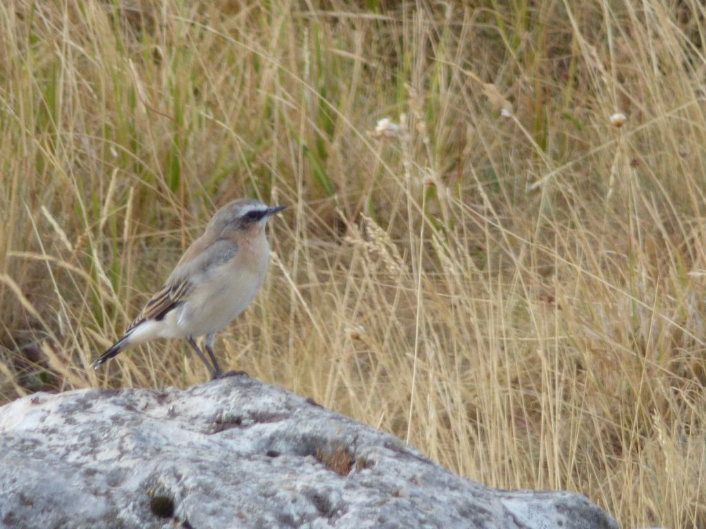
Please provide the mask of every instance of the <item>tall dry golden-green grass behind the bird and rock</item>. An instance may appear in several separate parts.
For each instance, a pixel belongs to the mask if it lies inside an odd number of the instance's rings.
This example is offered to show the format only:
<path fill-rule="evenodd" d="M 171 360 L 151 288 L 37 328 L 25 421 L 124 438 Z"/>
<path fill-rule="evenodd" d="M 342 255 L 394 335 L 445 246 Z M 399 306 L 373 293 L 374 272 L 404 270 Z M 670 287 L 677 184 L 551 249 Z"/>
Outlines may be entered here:
<path fill-rule="evenodd" d="M 203 382 L 177 341 L 88 364 L 253 195 L 289 209 L 223 367 L 492 487 L 706 527 L 705 15 L 3 1 L 0 403 Z"/>

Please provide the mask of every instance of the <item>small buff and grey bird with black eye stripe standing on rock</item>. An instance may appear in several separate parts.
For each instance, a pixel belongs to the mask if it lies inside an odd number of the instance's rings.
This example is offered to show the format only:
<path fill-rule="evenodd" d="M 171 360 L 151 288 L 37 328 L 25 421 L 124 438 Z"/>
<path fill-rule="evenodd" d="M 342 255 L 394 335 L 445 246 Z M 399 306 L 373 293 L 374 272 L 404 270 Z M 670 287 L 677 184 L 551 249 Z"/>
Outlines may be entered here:
<path fill-rule="evenodd" d="M 93 360 L 93 369 L 129 345 L 184 338 L 208 367 L 211 378 L 222 377 L 213 340 L 260 289 L 270 260 L 265 224 L 282 209 L 253 198 L 233 200 L 219 209 L 121 339 Z M 196 345 L 199 336 L 205 336 L 204 346 L 213 365 Z"/>

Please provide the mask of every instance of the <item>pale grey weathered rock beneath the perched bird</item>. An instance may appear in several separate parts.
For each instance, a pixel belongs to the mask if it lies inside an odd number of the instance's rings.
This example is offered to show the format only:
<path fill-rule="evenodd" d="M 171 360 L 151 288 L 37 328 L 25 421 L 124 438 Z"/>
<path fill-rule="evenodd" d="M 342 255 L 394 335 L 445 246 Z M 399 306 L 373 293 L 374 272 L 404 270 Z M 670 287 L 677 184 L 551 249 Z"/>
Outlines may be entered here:
<path fill-rule="evenodd" d="M 244 377 L 0 408 L 0 527 L 617 528 L 585 497 L 458 478 Z"/>

